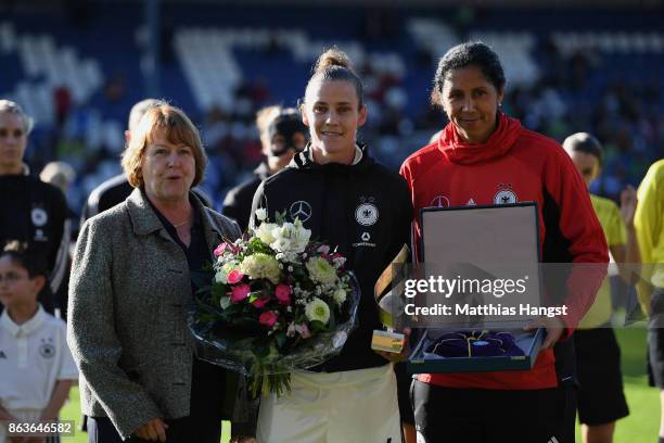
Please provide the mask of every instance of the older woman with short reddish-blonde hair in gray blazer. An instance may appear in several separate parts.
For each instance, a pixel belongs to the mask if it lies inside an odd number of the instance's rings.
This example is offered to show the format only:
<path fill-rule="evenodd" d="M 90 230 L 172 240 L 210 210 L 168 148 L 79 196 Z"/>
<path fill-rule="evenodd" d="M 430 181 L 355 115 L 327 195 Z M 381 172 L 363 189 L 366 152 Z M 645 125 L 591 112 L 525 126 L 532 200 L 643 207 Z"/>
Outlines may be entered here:
<path fill-rule="evenodd" d="M 157 103 L 123 155 L 136 189 L 81 229 L 67 341 L 91 442 L 219 442 L 226 377 L 196 357 L 190 276 L 240 230 L 191 192 L 206 163 L 187 115 Z"/>

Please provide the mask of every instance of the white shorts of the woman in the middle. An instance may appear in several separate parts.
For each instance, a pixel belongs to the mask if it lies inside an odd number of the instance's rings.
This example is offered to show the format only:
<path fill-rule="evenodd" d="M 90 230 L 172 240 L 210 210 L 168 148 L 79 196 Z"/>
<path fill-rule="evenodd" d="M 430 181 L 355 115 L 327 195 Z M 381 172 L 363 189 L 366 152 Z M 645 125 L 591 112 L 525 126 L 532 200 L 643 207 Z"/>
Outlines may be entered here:
<path fill-rule="evenodd" d="M 291 374 L 292 391 L 263 397 L 259 443 L 400 443 L 392 364 L 343 372 Z"/>

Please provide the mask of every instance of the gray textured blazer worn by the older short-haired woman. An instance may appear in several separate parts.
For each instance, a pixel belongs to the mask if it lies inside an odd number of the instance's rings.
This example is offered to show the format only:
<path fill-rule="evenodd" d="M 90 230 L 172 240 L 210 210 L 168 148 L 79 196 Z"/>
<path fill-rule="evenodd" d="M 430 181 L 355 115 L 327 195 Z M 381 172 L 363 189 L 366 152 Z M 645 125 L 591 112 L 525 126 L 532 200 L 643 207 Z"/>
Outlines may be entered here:
<path fill-rule="evenodd" d="M 240 237 L 234 221 L 192 201 L 210 251 Z M 140 190 L 84 225 L 67 327 L 84 414 L 111 418 L 123 439 L 155 417 L 189 415 L 191 300 L 187 257 Z"/>

